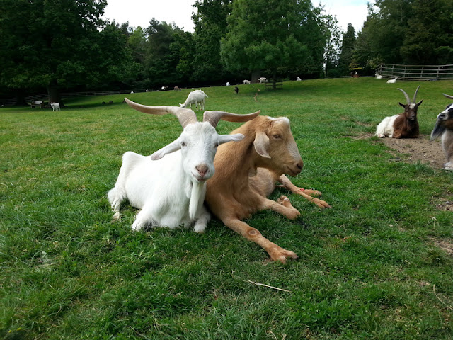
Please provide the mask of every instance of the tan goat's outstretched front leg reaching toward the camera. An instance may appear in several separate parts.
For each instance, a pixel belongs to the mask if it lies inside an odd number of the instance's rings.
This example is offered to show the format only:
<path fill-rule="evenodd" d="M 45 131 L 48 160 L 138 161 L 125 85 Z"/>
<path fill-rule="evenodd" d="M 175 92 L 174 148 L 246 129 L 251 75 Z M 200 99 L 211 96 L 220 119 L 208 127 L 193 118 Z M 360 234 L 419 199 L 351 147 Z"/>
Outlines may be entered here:
<path fill-rule="evenodd" d="M 293 251 L 283 249 L 281 246 L 277 246 L 277 244 L 270 242 L 268 239 L 263 237 L 258 229 L 251 227 L 246 222 L 237 220 L 236 218 L 227 218 L 222 221 L 227 227 L 234 230 L 238 234 L 241 234 L 249 241 L 259 244 L 265 251 L 268 252 L 270 259 L 273 261 L 286 263 L 287 259 L 297 259 L 298 257 Z"/>

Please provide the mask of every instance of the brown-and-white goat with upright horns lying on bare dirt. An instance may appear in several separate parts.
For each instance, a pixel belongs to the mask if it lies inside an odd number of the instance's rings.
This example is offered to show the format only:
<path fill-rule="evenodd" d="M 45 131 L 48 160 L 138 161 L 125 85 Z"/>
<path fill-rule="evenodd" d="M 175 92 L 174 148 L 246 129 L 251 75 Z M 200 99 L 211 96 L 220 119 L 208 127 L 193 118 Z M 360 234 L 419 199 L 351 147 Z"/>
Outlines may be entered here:
<path fill-rule="evenodd" d="M 376 128 L 377 137 L 384 138 L 418 138 L 420 128 L 417 120 L 418 106 L 421 105 L 423 100 L 415 103 L 417 98 L 417 92 L 420 86 L 415 90 L 413 95 L 413 101 L 409 98 L 408 94 L 403 89 L 399 89 L 403 92 L 406 97 L 407 104 L 399 103 L 403 106 L 404 112 L 399 115 L 392 115 L 382 120 Z"/>

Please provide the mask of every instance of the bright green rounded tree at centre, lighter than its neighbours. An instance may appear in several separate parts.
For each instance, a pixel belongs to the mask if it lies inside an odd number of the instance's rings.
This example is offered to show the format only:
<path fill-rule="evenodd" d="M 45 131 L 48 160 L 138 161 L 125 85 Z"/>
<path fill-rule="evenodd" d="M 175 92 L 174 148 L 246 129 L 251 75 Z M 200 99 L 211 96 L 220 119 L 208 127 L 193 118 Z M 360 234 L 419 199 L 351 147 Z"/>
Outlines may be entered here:
<path fill-rule="evenodd" d="M 316 19 L 309 0 L 235 0 L 221 41 L 222 62 L 231 72 L 252 72 L 255 81 L 261 70 L 274 81 L 279 69 L 321 72 L 325 41 Z"/>

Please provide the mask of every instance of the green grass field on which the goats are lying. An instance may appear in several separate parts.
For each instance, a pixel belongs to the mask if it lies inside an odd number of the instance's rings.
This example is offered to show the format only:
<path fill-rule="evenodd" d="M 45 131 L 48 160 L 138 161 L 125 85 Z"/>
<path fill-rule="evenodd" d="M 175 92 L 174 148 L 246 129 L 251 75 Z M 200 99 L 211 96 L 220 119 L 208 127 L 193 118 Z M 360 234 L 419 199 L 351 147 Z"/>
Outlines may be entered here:
<path fill-rule="evenodd" d="M 453 246 L 453 216 L 436 207 L 453 200 L 453 174 L 403 154 L 394 162 L 372 137 L 402 112 L 396 88 L 412 97 L 419 84 L 428 138 L 453 81 L 294 81 L 262 88 L 257 102 L 256 84 L 205 89 L 208 110 L 287 116 L 305 164 L 293 183 L 332 205 L 281 190 L 273 198 L 288 195 L 299 219 L 263 211 L 246 221 L 299 255 L 286 265 L 216 220 L 205 234 L 132 233 L 136 210 L 125 204 L 110 223 L 122 154 L 171 142 L 176 118 L 133 111 L 122 96 L 74 99 L 61 112 L 1 108 L 0 337 L 452 339 L 453 258 L 440 244 Z M 177 105 L 189 91 L 127 97 Z"/>

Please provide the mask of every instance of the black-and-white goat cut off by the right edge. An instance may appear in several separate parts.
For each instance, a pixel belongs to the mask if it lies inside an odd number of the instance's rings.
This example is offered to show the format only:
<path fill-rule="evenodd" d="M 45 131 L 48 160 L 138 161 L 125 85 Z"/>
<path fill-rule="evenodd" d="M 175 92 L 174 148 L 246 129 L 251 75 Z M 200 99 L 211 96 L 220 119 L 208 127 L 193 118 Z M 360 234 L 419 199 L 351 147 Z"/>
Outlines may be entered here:
<path fill-rule="evenodd" d="M 449 99 L 453 96 L 443 94 Z M 447 163 L 444 164 L 444 170 L 453 171 L 453 103 L 449 104 L 444 111 L 437 115 L 437 121 L 431 132 L 431 140 L 436 137 L 441 137 L 442 151 L 447 158 Z"/>

